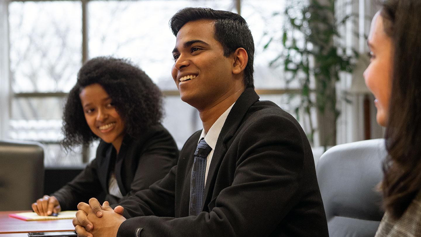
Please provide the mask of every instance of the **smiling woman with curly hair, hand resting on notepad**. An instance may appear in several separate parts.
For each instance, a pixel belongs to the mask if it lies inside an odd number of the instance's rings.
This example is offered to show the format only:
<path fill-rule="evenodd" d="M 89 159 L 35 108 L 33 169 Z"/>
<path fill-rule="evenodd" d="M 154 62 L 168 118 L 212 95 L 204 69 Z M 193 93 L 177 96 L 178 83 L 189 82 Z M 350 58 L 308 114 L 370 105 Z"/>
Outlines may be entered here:
<path fill-rule="evenodd" d="M 160 124 L 162 110 L 160 90 L 139 67 L 112 57 L 86 62 L 64 107 L 62 145 L 69 150 L 100 140 L 96 158 L 32 209 L 38 215 L 76 210 L 100 194 L 116 204 L 163 178 L 176 164 L 178 149 Z"/>

